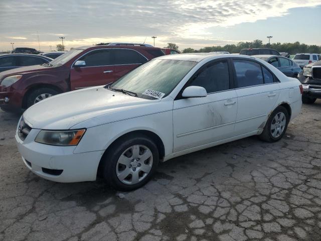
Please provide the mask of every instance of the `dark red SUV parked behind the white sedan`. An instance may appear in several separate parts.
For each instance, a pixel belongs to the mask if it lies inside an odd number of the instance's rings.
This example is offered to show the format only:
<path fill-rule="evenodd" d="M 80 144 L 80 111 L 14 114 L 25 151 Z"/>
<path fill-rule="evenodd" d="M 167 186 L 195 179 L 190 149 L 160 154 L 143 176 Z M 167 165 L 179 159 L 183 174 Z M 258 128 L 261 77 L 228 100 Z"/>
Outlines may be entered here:
<path fill-rule="evenodd" d="M 19 111 L 55 94 L 108 84 L 162 55 L 160 48 L 128 45 L 71 49 L 47 64 L 2 72 L 0 107 Z"/>

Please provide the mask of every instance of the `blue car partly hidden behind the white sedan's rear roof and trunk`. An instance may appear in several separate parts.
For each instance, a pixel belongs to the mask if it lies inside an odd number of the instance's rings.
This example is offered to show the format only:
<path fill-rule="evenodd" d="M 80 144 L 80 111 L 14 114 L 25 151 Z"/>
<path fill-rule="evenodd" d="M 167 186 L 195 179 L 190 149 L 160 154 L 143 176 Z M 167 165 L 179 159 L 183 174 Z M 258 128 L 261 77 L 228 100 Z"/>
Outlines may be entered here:
<path fill-rule="evenodd" d="M 277 55 L 253 55 L 253 57 L 262 59 L 275 68 L 279 69 L 283 74 L 288 77 L 297 78 L 298 74 L 302 72 L 300 66 L 298 66 L 291 59 L 277 56 Z"/>

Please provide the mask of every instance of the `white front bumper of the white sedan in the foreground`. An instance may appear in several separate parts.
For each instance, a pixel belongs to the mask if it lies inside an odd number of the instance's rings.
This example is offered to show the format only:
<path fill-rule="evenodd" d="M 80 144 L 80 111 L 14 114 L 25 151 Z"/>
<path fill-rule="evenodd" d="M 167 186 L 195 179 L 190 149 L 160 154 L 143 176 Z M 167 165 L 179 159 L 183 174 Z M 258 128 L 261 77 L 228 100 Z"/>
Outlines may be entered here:
<path fill-rule="evenodd" d="M 18 131 L 18 128 L 17 128 Z M 16 141 L 25 165 L 36 175 L 55 182 L 95 181 L 102 151 L 74 154 L 75 146 L 59 147 L 36 143 L 40 130 L 32 129 Z"/>

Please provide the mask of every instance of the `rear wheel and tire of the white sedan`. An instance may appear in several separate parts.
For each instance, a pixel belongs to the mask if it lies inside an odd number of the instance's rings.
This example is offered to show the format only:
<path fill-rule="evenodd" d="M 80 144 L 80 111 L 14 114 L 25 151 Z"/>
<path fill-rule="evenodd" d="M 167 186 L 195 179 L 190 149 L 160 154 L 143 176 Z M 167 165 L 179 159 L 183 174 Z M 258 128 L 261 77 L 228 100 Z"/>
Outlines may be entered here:
<path fill-rule="evenodd" d="M 278 123 L 278 119 L 280 123 Z M 283 106 L 276 107 L 276 109 L 274 109 L 269 116 L 262 134 L 259 135 L 259 138 L 265 142 L 279 141 L 284 136 L 288 123 L 289 113 L 287 112 L 287 109 Z M 280 128 L 278 128 L 278 126 L 280 126 Z"/>

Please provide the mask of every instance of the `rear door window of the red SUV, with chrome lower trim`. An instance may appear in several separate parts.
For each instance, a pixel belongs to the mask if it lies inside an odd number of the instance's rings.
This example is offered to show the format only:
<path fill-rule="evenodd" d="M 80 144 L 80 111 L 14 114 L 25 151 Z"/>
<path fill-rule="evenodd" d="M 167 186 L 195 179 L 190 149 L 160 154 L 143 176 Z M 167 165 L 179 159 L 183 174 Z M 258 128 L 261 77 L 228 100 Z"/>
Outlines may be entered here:
<path fill-rule="evenodd" d="M 113 49 L 115 65 L 118 64 L 142 64 L 147 59 L 140 53 L 131 49 Z"/>

